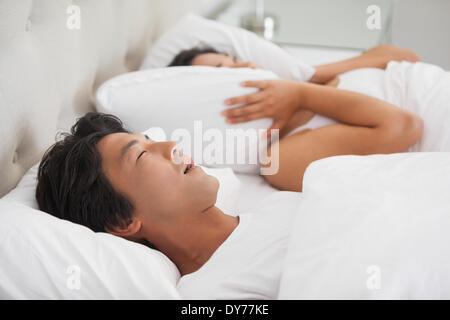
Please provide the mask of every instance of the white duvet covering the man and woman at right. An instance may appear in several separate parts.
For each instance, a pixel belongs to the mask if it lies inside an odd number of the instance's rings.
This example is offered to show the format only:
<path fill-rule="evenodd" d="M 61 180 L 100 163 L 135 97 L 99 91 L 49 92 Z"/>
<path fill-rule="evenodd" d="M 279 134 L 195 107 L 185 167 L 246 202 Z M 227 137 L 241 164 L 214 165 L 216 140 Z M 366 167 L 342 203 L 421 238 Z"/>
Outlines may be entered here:
<path fill-rule="evenodd" d="M 450 151 L 450 73 L 390 63 L 390 102 L 425 120 L 410 151 Z M 450 299 L 450 152 L 313 162 L 280 299 Z"/>

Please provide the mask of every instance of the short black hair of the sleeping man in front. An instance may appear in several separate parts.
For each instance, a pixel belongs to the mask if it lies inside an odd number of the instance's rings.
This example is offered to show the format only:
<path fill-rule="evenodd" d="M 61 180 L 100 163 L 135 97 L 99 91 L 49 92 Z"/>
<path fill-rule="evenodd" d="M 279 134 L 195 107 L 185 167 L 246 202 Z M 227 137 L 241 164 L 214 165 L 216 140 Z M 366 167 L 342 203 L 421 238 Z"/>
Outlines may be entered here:
<path fill-rule="evenodd" d="M 63 133 L 39 165 L 39 208 L 95 232 L 128 224 L 133 205 L 102 172 L 97 149 L 101 138 L 118 132 L 129 133 L 117 117 L 90 112 L 78 119 L 70 133 Z"/>

